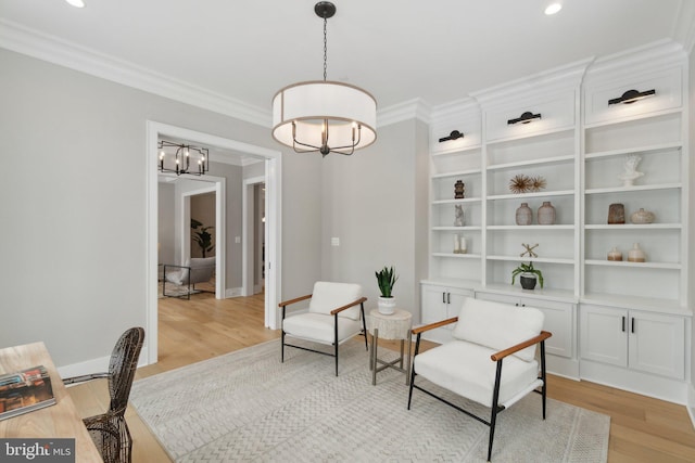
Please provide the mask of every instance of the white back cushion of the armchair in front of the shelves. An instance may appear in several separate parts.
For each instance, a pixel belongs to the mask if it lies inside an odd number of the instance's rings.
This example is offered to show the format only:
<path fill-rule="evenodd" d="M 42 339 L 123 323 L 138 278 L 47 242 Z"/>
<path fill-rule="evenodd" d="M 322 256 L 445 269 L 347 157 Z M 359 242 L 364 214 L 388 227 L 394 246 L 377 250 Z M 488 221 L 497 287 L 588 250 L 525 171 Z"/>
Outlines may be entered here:
<path fill-rule="evenodd" d="M 532 307 L 466 298 L 453 335 L 455 339 L 497 351 L 536 336 L 543 329 L 543 312 Z M 515 356 L 531 361 L 535 357 L 535 346 L 519 350 Z"/>

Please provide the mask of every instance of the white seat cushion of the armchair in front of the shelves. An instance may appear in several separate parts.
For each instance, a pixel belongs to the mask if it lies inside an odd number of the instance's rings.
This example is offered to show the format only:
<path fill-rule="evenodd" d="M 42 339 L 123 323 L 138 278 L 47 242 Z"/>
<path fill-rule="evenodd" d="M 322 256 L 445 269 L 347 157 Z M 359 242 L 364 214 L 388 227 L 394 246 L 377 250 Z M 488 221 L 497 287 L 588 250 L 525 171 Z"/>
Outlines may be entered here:
<path fill-rule="evenodd" d="M 490 360 L 490 356 L 495 351 L 479 344 L 455 339 L 415 357 L 415 370 L 418 375 L 441 387 L 491 407 L 497 364 Z M 498 403 L 511 401 L 519 390 L 528 393 L 528 387 L 536 381 L 538 372 L 539 364 L 535 360 L 523 361 L 514 356 L 507 357 Z"/>

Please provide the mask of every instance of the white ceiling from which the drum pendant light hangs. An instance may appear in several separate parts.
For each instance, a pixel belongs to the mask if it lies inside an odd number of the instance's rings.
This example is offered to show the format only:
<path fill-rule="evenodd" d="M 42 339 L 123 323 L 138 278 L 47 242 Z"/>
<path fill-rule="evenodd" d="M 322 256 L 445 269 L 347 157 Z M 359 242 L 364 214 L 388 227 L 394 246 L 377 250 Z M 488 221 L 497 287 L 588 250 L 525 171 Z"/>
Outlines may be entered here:
<path fill-rule="evenodd" d="M 323 78 L 315 0 L 85 1 L 0 0 L 0 17 L 267 114 L 280 88 Z M 437 106 L 665 38 L 690 50 L 695 10 L 692 0 L 564 0 L 554 16 L 547 0 L 334 3 L 328 78 L 364 88 L 379 108 Z"/>

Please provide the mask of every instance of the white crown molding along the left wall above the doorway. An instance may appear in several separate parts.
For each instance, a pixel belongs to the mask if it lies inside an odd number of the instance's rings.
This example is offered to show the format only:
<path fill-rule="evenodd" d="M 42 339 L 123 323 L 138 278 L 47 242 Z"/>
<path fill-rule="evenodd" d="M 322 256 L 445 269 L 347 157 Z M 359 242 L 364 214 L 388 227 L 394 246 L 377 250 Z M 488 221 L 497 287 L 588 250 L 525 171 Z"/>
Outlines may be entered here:
<path fill-rule="evenodd" d="M 0 47 L 248 123 L 264 127 L 271 125 L 270 110 L 258 108 L 2 18 Z"/>

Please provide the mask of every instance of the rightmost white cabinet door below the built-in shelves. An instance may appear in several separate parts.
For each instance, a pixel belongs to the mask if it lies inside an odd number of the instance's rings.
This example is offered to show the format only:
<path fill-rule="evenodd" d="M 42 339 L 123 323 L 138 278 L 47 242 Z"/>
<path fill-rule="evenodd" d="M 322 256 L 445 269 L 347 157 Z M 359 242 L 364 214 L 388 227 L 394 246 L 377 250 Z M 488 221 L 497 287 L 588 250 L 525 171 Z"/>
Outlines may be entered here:
<path fill-rule="evenodd" d="M 682 317 L 630 312 L 631 369 L 664 376 L 685 375 L 685 320 Z"/>

